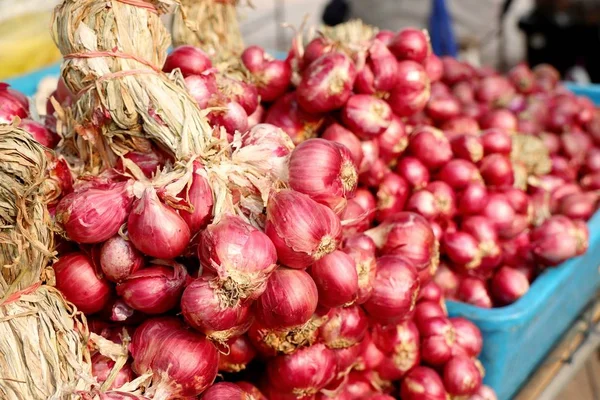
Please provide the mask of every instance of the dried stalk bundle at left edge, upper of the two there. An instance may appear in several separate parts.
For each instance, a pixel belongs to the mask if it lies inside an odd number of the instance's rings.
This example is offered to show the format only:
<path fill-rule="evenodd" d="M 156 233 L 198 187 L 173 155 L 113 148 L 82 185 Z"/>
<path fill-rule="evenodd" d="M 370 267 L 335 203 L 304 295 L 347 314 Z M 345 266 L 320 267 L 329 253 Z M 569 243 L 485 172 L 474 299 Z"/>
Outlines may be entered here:
<path fill-rule="evenodd" d="M 0 302 L 38 282 L 52 256 L 44 203 L 48 151 L 26 131 L 0 125 Z"/>

